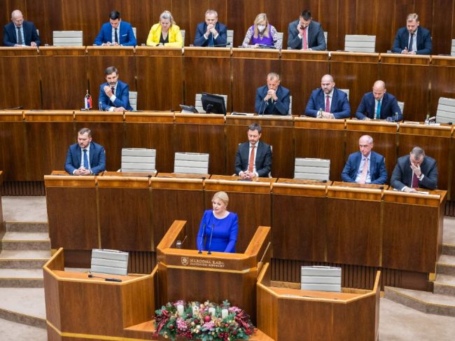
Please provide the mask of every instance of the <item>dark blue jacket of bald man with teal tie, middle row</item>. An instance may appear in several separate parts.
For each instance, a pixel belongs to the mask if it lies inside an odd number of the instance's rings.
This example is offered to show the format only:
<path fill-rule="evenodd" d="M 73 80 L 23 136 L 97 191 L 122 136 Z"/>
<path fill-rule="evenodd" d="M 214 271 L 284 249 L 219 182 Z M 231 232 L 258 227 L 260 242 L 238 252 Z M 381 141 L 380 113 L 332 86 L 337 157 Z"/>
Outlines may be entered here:
<path fill-rule="evenodd" d="M 359 120 L 364 120 L 365 118 L 374 118 L 374 105 L 373 92 L 367 92 L 365 95 L 363 95 L 362 100 L 358 105 L 356 118 Z M 398 119 L 395 118 L 395 121 L 403 119 L 395 96 L 386 92 L 381 100 L 381 120 L 392 117 L 395 115 L 395 113 L 398 113 Z"/>

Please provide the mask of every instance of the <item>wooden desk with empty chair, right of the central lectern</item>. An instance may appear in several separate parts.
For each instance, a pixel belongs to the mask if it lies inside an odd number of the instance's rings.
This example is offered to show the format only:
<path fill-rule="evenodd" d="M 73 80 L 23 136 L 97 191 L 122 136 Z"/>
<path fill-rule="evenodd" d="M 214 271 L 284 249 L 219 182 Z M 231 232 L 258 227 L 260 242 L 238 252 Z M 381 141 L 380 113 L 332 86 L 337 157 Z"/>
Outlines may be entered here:
<path fill-rule="evenodd" d="M 378 340 L 380 276 L 378 271 L 372 290 L 300 290 L 300 284 L 270 281 L 265 264 L 258 279 L 258 328 L 274 340 Z"/>

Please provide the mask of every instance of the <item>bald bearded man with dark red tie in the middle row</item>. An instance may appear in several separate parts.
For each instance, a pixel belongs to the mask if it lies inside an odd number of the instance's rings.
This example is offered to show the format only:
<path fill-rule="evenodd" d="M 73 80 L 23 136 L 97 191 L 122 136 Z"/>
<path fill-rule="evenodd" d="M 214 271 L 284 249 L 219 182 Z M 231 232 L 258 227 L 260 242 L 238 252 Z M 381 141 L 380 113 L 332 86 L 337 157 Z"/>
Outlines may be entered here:
<path fill-rule="evenodd" d="M 351 106 L 345 92 L 335 88 L 330 75 L 321 78 L 321 89 L 311 92 L 305 115 L 316 118 L 349 118 Z"/>

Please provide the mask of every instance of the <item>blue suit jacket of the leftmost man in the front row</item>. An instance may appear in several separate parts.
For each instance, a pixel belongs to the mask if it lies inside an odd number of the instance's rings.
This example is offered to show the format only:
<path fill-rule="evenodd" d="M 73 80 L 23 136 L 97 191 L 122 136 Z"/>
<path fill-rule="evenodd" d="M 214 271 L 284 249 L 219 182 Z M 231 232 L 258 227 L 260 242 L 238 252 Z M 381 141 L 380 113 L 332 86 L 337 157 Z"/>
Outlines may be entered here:
<path fill-rule="evenodd" d="M 78 144 L 71 144 L 66 154 L 65 170 L 73 174 L 80 167 L 81 151 Z M 106 153 L 104 147 L 90 142 L 90 169 L 93 174 L 98 174 L 106 170 Z"/>

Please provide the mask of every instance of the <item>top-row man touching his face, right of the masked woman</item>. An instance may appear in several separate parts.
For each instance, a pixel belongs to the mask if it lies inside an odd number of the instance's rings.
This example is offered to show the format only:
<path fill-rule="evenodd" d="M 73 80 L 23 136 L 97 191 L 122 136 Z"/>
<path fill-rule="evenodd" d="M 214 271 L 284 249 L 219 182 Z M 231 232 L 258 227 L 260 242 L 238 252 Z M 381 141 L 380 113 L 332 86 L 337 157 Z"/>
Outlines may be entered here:
<path fill-rule="evenodd" d="M 321 24 L 313 21 L 310 11 L 302 11 L 300 18 L 288 26 L 288 48 L 295 50 L 326 50 Z"/>

